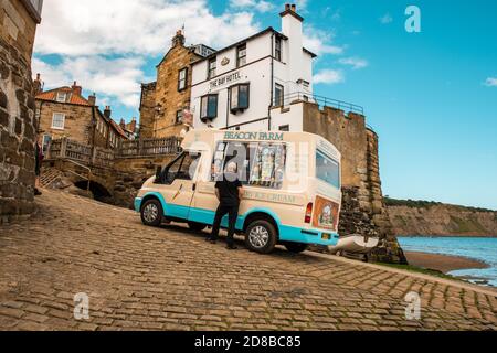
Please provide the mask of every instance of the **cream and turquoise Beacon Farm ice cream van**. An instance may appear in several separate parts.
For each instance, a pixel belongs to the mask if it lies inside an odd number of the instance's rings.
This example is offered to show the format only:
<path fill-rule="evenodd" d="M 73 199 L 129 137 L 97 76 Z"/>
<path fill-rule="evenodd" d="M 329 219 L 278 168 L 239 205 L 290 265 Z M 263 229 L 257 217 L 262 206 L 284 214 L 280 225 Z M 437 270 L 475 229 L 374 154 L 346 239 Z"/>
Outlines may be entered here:
<path fill-rule="evenodd" d="M 236 232 L 248 249 L 268 254 L 281 244 L 299 253 L 308 245 L 337 245 L 341 156 L 326 139 L 307 132 L 192 130 L 181 147 L 135 200 L 145 225 L 211 226 L 219 205 L 215 180 L 236 162 L 244 185 Z"/>

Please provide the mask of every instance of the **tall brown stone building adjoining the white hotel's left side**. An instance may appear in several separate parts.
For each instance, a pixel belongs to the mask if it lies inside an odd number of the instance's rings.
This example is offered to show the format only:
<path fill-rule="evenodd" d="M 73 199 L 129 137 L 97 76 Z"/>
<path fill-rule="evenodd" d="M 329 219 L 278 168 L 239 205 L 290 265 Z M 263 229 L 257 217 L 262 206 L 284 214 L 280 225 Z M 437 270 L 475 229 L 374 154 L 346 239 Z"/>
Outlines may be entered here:
<path fill-rule="evenodd" d="M 140 138 L 179 136 L 182 114 L 190 109 L 191 64 L 213 52 L 205 45 L 186 46 L 178 31 L 171 49 L 157 65 L 157 81 L 141 85 Z"/>

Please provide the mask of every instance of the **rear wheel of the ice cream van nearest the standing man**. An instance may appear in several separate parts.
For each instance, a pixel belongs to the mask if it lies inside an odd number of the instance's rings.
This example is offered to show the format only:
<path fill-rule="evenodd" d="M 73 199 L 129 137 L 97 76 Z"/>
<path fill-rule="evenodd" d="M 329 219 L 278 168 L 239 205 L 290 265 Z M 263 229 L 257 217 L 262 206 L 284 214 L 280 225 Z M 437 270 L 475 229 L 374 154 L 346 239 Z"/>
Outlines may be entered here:
<path fill-rule="evenodd" d="M 245 232 L 246 247 L 258 254 L 272 253 L 278 240 L 277 238 L 275 226 L 264 220 L 252 222 Z"/>

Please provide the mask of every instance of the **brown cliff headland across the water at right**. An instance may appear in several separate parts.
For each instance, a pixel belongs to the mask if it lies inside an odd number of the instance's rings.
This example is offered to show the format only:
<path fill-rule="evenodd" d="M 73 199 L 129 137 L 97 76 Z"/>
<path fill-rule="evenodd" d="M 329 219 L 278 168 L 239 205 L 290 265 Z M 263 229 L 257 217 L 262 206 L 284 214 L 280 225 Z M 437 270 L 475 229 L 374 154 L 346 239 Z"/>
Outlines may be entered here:
<path fill-rule="evenodd" d="M 385 199 L 396 235 L 497 236 L 497 211 Z"/>

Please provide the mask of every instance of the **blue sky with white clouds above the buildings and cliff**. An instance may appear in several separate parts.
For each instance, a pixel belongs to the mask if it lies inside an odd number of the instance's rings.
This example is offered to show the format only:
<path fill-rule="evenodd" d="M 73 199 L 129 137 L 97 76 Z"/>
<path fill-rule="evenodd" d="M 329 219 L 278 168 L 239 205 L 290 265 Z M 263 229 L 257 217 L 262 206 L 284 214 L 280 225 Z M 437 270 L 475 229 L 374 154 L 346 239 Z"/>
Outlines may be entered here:
<path fill-rule="evenodd" d="M 364 107 L 380 137 L 383 193 L 497 210 L 497 1 L 299 0 L 315 93 Z M 269 25 L 285 1 L 45 0 L 33 74 L 77 81 L 117 121 L 184 25 L 222 49 Z M 408 32 L 409 6 L 421 32 Z"/>

